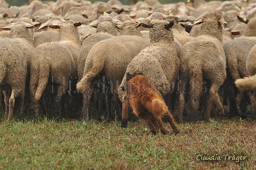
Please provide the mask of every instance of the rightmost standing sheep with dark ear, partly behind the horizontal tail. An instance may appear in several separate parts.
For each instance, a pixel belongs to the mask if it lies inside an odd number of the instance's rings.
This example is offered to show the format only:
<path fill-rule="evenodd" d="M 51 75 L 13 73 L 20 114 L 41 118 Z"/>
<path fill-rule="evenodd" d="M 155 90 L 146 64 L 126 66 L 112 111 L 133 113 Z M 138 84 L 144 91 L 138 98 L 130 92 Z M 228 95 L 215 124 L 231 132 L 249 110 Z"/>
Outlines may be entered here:
<path fill-rule="evenodd" d="M 234 100 L 236 98 L 235 94 L 233 93 L 234 85 L 230 86 L 230 84 L 234 84 L 235 80 L 237 79 L 248 76 L 248 72 L 246 71 L 246 60 L 251 48 L 253 48 L 254 44 L 256 44 L 254 27 L 256 18 L 251 18 L 248 20 L 238 16 L 238 19 L 239 21 L 247 23 L 245 34 L 243 37 L 238 37 L 225 43 L 223 48 L 226 54 L 227 72 L 231 76 L 230 82 L 227 82 L 227 86 L 230 88 L 230 113 L 244 117 L 246 116 L 247 105 L 250 103 L 250 96 L 247 91 L 241 91 L 242 99 L 240 104 L 240 113 L 237 108 L 237 102 Z"/>

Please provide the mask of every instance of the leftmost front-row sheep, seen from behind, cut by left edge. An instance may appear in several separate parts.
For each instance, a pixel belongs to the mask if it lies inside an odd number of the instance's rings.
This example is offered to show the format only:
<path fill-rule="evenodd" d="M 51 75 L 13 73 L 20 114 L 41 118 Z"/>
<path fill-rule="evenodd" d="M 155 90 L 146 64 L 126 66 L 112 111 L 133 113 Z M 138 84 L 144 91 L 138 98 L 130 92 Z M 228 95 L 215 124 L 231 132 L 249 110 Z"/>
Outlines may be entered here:
<path fill-rule="evenodd" d="M 5 118 L 13 119 L 15 98 L 25 94 L 29 59 L 33 50 L 33 25 L 25 22 L 2 27 L 10 30 L 9 38 L 0 38 L 1 89 L 5 95 Z M 11 92 L 11 94 L 10 94 Z"/>

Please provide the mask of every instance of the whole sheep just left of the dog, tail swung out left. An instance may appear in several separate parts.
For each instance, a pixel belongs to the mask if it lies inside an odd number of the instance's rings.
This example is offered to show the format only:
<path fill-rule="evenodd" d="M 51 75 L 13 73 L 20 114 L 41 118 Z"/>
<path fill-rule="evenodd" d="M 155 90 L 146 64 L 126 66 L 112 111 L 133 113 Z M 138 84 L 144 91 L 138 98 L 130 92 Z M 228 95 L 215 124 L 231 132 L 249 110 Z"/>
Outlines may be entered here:
<path fill-rule="evenodd" d="M 123 27 L 125 27 L 125 25 Z M 115 90 L 118 86 L 115 82 L 121 81 L 127 64 L 129 64 L 130 60 L 133 59 L 142 48 L 147 46 L 147 44 L 146 39 L 136 35 L 123 35 L 106 39 L 95 44 L 87 55 L 83 78 L 77 84 L 79 92 L 85 93 L 89 88 L 90 81 L 95 80 L 95 77 L 99 75 L 100 72 L 104 72 L 104 77 L 110 84 L 113 83 L 113 86 L 111 85 L 113 87 L 111 91 Z M 106 83 L 107 82 L 105 82 L 103 86 L 109 84 Z M 86 94 L 89 95 L 87 99 L 89 100 L 91 93 L 86 92 Z M 107 96 L 107 94 L 105 95 Z M 112 101 L 113 100 L 117 100 L 117 94 L 115 94 L 115 92 L 113 94 Z M 88 120 L 89 113 L 86 112 L 85 115 Z M 108 114 L 107 119 L 110 119 L 110 114 Z"/>

